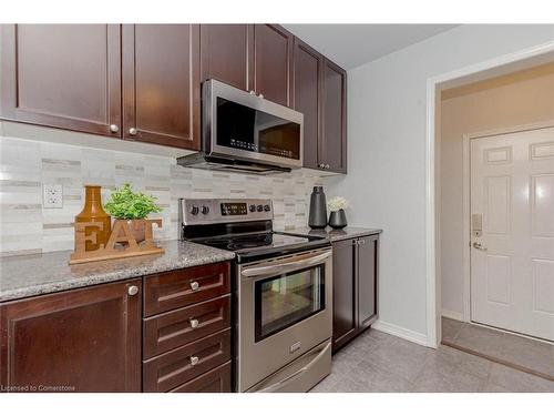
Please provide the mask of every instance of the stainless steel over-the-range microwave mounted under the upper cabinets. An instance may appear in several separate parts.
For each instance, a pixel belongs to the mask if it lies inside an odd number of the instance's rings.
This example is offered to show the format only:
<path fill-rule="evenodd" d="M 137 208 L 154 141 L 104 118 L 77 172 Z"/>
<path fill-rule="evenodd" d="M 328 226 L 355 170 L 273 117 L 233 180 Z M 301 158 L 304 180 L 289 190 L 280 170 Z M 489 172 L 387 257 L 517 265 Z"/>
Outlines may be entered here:
<path fill-rule="evenodd" d="M 184 166 L 268 174 L 301 168 L 304 115 L 216 80 L 202 87 L 202 151 Z"/>

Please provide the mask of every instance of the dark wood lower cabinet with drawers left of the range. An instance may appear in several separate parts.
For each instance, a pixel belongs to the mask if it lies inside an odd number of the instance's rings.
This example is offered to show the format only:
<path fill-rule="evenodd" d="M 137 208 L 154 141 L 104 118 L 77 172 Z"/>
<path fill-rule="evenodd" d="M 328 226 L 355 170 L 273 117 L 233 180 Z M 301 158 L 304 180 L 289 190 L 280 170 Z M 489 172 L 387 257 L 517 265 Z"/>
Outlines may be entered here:
<path fill-rule="evenodd" d="M 228 284 L 224 262 L 0 304 L 0 390 L 230 392 Z"/>

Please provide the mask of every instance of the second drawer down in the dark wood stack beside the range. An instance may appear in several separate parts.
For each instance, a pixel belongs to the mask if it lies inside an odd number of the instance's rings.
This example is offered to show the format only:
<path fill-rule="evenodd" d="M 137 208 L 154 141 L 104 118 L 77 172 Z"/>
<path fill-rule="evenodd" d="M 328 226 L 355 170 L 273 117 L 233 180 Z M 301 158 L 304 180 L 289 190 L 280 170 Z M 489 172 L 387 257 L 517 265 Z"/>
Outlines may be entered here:
<path fill-rule="evenodd" d="M 230 294 L 148 317 L 143 322 L 143 358 L 192 343 L 229 325 Z"/>

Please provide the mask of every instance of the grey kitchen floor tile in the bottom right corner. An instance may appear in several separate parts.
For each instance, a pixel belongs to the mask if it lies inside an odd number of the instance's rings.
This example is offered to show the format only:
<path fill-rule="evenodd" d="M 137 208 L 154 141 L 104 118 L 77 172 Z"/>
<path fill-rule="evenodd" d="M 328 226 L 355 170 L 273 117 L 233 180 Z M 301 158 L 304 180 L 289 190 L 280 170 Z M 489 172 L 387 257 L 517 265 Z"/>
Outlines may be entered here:
<path fill-rule="evenodd" d="M 531 393 L 551 392 L 554 393 L 554 382 L 536 377 L 517 369 L 494 363 L 491 368 L 489 383 L 504 387 L 510 392 Z"/>

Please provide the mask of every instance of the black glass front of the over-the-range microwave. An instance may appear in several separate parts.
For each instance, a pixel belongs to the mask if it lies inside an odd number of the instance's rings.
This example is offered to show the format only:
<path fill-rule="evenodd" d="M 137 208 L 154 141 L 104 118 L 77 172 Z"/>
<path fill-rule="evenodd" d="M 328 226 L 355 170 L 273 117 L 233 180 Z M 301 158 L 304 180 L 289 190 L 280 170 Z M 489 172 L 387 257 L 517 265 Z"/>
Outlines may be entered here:
<path fill-rule="evenodd" d="M 300 159 L 300 125 L 276 115 L 217 98 L 217 144 Z"/>

